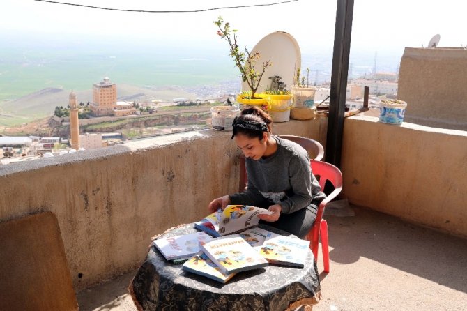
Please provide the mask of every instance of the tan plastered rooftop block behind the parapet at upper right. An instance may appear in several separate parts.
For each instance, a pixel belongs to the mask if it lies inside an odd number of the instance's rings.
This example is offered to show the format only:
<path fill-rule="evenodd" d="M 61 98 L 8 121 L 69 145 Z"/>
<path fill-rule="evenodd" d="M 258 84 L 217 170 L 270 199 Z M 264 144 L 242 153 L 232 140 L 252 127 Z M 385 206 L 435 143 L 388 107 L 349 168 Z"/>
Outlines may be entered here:
<path fill-rule="evenodd" d="M 467 50 L 406 47 L 397 98 L 407 102 L 404 121 L 467 130 Z"/>

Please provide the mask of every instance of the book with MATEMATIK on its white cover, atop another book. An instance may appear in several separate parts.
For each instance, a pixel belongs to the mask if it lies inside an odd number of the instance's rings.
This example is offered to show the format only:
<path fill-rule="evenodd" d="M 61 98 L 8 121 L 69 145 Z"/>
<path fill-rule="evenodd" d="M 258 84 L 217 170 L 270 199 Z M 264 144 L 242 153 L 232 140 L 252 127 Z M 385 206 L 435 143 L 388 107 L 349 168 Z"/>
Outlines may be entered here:
<path fill-rule="evenodd" d="M 238 234 L 214 238 L 201 244 L 201 250 L 226 274 L 268 266 L 268 261 Z"/>

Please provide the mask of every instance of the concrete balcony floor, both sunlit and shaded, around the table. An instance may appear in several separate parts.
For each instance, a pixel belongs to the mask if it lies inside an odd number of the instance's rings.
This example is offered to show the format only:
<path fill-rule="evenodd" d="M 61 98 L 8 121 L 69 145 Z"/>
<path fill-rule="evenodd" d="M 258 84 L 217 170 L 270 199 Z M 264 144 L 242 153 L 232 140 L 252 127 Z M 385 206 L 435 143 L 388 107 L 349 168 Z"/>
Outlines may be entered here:
<path fill-rule="evenodd" d="M 330 273 L 320 273 L 322 296 L 313 310 L 467 309 L 467 239 L 352 210 L 355 216 L 325 217 Z M 323 271 L 321 257 L 318 266 Z M 137 310 L 127 290 L 135 273 L 79 292 L 79 310 Z"/>

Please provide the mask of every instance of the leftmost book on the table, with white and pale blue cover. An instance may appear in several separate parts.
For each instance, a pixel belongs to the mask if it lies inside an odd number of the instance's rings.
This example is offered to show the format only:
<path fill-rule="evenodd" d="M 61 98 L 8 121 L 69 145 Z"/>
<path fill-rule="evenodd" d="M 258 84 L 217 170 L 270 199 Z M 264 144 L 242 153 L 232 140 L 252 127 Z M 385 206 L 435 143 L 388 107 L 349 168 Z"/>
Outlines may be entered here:
<path fill-rule="evenodd" d="M 206 243 L 213 237 L 206 232 L 196 232 L 193 234 L 183 234 L 181 236 L 162 237 L 153 240 L 155 248 L 167 260 L 191 257 L 199 252 L 199 243 Z"/>

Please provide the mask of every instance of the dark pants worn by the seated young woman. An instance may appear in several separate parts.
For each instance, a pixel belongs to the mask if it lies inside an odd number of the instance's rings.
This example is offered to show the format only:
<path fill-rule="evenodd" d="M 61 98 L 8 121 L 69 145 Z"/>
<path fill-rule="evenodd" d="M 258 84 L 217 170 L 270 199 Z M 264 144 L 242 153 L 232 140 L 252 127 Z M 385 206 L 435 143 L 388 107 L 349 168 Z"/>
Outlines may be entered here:
<path fill-rule="evenodd" d="M 310 206 L 307 206 L 290 214 L 280 214 L 279 220 L 275 222 L 267 222 L 260 220 L 259 223 L 263 223 L 271 227 L 276 227 L 277 229 L 282 229 L 295 236 L 298 236 L 299 238 L 305 238 L 305 236 L 307 236 L 309 232 L 309 229 L 312 228 L 314 220 L 316 219 L 316 211 L 318 210 L 318 208 L 317 205 L 315 205 L 314 203 L 315 202 L 312 202 Z M 269 206 L 274 204 L 275 203 L 270 202 L 266 199 L 257 206 L 268 209 Z"/>

